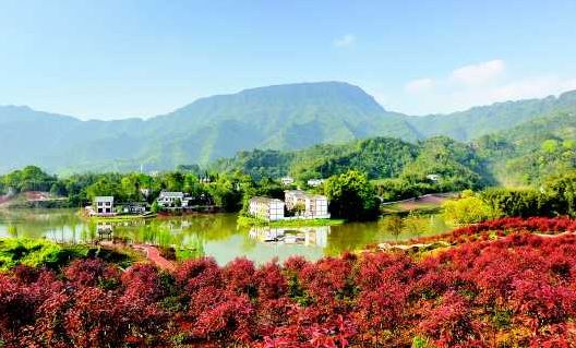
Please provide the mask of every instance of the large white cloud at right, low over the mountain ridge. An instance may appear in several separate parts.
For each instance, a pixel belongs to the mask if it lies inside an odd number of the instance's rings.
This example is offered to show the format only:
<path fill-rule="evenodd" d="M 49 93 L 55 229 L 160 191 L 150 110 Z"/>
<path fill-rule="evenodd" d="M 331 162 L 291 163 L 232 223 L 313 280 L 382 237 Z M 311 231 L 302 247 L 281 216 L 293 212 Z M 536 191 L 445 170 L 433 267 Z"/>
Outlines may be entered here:
<path fill-rule="evenodd" d="M 517 74 L 517 73 L 516 73 Z M 539 74 L 515 79 L 501 59 L 453 70 L 445 76 L 408 82 L 392 106 L 411 115 L 452 112 L 497 101 L 542 98 L 576 89 L 576 79 Z M 415 103 L 415 100 L 417 103 Z"/>

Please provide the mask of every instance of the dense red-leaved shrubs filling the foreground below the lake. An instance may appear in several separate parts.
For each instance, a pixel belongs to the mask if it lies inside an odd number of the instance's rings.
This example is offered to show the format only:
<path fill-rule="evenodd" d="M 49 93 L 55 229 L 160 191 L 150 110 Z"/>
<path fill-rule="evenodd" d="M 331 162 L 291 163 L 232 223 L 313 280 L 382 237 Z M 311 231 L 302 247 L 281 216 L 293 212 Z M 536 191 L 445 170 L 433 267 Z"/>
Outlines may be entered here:
<path fill-rule="evenodd" d="M 488 235 L 478 230 L 460 235 Z M 571 347 L 576 236 L 569 219 L 504 219 L 496 240 L 465 240 L 419 259 L 368 252 L 255 267 L 238 259 L 139 264 L 79 260 L 61 272 L 0 274 L 9 347 Z"/>

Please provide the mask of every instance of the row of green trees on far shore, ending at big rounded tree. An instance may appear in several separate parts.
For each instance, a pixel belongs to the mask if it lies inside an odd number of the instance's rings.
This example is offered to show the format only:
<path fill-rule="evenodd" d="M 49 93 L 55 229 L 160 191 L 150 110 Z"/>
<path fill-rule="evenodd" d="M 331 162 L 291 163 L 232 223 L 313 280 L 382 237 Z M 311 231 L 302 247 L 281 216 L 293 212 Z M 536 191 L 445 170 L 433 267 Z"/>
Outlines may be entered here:
<path fill-rule="evenodd" d="M 14 193 L 25 191 L 49 191 L 53 195 L 67 196 L 71 206 L 89 204 L 95 196 L 112 195 L 117 202 L 153 203 L 161 191 L 188 193 L 199 204 L 213 204 L 226 212 L 247 208 L 253 196 L 284 199 L 284 191 L 295 185 L 283 185 L 279 180 L 262 178 L 254 180 L 240 171 L 204 173 L 180 168 L 176 171 L 147 175 L 131 173 L 83 173 L 58 178 L 40 168 L 28 166 L 0 177 L 0 191 Z M 335 218 L 349 220 L 374 219 L 379 215 L 376 191 L 368 176 L 350 170 L 331 177 L 319 188 L 307 188 L 326 194 L 329 211 Z"/>

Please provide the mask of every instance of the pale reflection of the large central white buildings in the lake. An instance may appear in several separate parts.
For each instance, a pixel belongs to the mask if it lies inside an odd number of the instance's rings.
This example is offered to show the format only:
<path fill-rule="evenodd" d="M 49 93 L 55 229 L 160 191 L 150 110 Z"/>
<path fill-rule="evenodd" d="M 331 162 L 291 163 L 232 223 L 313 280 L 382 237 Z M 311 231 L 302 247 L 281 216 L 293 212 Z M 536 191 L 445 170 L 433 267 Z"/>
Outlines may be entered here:
<path fill-rule="evenodd" d="M 283 244 L 317 245 L 325 248 L 328 244 L 329 226 L 317 227 L 253 227 L 250 237 L 261 242 L 275 242 Z"/>

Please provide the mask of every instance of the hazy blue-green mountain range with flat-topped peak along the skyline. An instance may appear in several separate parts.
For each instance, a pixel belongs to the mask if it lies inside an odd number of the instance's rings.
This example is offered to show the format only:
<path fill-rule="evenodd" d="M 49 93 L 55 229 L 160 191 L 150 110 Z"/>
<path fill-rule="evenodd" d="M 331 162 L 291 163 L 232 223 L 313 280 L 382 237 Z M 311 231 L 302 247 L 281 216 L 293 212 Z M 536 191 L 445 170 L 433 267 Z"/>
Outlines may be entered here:
<path fill-rule="evenodd" d="M 358 86 L 299 83 L 197 99 L 151 119 L 82 121 L 0 107 L 0 172 L 34 164 L 53 172 L 173 169 L 239 151 L 300 149 L 373 136 L 415 142 L 433 135 L 470 141 L 547 115 L 576 109 L 576 91 L 499 103 L 448 115 L 384 109 Z"/>

